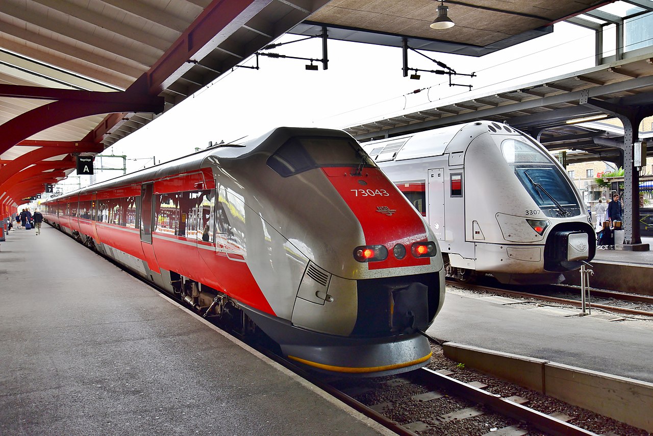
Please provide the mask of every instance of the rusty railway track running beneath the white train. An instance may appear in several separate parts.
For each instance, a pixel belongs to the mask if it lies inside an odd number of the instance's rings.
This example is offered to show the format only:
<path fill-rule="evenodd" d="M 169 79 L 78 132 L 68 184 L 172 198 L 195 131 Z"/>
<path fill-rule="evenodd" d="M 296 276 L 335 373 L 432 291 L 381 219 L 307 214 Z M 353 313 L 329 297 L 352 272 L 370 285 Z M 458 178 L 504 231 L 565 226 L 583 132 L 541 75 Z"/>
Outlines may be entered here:
<path fill-rule="evenodd" d="M 522 299 L 534 299 L 547 301 L 550 303 L 559 303 L 561 305 L 571 305 L 581 307 L 581 289 L 577 286 L 567 285 L 549 285 L 535 286 L 532 292 L 520 290 L 517 286 L 501 284 L 461 284 L 455 280 L 447 279 L 447 285 L 468 288 L 473 291 L 494 293 L 505 295 L 507 297 L 517 297 Z M 558 295 L 558 296 L 556 296 Z M 588 306 L 591 309 L 601 309 L 607 312 L 613 312 L 625 315 L 638 315 L 653 318 L 653 297 L 648 295 L 637 295 L 609 290 L 597 290 L 590 288 L 591 298 L 588 300 Z M 606 304 L 610 303 L 610 304 Z"/>

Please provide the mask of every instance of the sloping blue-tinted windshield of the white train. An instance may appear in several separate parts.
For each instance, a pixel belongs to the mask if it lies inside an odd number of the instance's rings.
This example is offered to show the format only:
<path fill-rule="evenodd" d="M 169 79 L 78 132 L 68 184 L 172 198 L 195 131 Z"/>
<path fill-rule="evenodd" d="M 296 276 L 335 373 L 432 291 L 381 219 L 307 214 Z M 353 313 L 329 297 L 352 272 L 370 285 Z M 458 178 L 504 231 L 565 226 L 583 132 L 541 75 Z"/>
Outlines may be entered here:
<path fill-rule="evenodd" d="M 545 152 L 517 139 L 503 140 L 501 151 L 526 192 L 547 216 L 575 216 L 581 213 L 569 180 Z"/>

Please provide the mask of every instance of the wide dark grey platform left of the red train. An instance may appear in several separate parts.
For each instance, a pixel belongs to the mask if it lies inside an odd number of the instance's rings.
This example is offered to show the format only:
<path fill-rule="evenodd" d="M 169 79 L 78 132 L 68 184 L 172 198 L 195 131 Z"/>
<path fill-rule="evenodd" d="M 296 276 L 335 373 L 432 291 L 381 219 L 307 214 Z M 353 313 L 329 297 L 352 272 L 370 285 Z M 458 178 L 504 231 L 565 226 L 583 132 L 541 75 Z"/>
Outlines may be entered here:
<path fill-rule="evenodd" d="M 394 434 L 71 238 L 0 244 L 0 434 Z"/>

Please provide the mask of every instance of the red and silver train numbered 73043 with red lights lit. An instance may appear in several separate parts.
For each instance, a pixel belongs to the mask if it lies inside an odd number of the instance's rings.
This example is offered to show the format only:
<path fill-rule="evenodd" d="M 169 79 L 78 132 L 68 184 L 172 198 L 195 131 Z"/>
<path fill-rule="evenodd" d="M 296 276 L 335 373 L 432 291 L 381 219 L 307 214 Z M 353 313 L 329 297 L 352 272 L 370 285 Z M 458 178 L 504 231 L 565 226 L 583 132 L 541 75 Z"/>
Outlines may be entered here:
<path fill-rule="evenodd" d="M 204 316 L 321 371 L 425 365 L 434 233 L 342 131 L 279 127 L 42 204 L 46 221 Z"/>

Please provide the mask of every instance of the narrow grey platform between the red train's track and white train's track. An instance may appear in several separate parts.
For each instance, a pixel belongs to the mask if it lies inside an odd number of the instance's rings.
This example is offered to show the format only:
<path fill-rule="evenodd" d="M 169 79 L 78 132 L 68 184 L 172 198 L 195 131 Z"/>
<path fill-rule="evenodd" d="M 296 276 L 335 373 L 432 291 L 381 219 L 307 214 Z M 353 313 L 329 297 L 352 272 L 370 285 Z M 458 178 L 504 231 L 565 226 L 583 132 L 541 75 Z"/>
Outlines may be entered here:
<path fill-rule="evenodd" d="M 653 322 L 502 305 L 449 287 L 426 331 L 446 341 L 653 382 Z M 577 310 L 579 312 L 579 310 Z M 596 310 L 592 310 L 594 314 Z M 572 316 L 569 316 L 572 315 Z"/>

